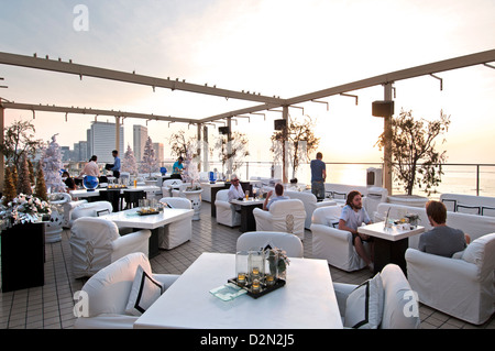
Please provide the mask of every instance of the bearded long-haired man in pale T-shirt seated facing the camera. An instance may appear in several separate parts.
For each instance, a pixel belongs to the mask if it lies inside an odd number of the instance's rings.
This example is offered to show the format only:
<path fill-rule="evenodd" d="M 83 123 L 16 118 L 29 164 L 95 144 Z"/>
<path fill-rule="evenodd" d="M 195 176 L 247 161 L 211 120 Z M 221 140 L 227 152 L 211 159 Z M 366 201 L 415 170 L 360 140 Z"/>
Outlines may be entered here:
<path fill-rule="evenodd" d="M 361 193 L 353 190 L 348 194 L 345 206 L 342 208 L 342 213 L 339 219 L 339 229 L 346 230 L 352 233 L 352 244 L 355 248 L 355 252 L 364 260 L 370 271 L 374 271 L 373 266 L 373 238 L 366 234 L 358 233 L 358 228 L 362 223 L 370 224 L 371 219 L 367 216 L 366 210 L 363 208 L 363 199 Z M 370 243 L 371 254 L 369 257 L 364 250 L 363 241 Z"/>

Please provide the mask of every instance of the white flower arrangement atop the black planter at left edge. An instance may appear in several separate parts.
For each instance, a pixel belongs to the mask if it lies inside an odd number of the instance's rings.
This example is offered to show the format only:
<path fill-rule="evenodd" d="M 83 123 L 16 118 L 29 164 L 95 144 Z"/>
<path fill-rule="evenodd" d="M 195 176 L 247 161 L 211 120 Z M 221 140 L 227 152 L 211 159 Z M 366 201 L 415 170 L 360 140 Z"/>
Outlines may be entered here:
<path fill-rule="evenodd" d="M 0 205 L 1 228 L 10 228 L 15 224 L 40 221 L 40 216 L 51 215 L 51 205 L 37 197 L 20 194 L 12 201 Z"/>

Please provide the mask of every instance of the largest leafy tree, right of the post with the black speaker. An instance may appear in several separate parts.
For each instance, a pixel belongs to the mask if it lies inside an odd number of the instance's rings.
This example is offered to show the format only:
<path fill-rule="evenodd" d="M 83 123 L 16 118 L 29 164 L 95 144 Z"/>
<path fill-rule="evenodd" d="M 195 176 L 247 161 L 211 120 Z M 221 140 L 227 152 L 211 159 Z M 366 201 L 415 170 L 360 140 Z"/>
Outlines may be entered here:
<path fill-rule="evenodd" d="M 435 150 L 435 139 L 446 133 L 449 124 L 450 116 L 447 117 L 443 111 L 440 111 L 440 119 L 435 121 L 415 120 L 413 111 L 404 110 L 392 119 L 391 167 L 407 195 L 413 195 L 417 185 L 419 188 L 425 186 L 424 191 L 429 196 L 433 191 L 432 187 L 440 184 L 442 163 L 447 161 L 447 155 L 446 151 L 440 153 Z M 385 134 L 380 135 L 376 144 L 381 150 L 385 143 Z"/>

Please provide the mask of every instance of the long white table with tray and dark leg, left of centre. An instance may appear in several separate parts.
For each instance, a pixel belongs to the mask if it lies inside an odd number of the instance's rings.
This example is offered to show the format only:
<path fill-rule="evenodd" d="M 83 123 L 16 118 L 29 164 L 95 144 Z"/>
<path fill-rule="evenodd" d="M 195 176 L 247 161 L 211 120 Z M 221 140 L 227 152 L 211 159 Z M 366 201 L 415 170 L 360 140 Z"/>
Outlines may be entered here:
<path fill-rule="evenodd" d="M 124 211 L 112 212 L 101 216 L 101 218 L 109 219 L 121 228 L 133 229 L 150 229 L 152 235 L 150 237 L 150 259 L 160 253 L 158 231 L 162 227 L 174 221 L 190 218 L 193 220 L 194 210 L 185 208 L 165 208 L 157 215 L 140 216 L 138 215 L 140 208 L 133 208 Z"/>

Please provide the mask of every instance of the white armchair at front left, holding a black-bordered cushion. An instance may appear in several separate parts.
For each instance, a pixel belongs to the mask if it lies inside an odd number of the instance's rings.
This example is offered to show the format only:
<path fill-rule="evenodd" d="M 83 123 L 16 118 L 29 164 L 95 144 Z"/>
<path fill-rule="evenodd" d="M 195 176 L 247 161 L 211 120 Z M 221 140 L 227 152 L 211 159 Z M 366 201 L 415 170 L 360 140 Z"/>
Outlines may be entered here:
<path fill-rule="evenodd" d="M 141 266 L 148 277 L 167 289 L 179 277 L 174 274 L 153 274 L 145 254 L 135 252 L 113 262 L 91 276 L 82 286 L 87 300 L 76 303 L 79 314 L 75 329 L 132 329 L 139 318 L 129 310 L 129 301 L 133 301 L 132 290 L 138 267 Z M 145 285 L 143 285 L 145 286 Z M 141 294 L 145 296 L 146 294 Z M 79 295 L 81 296 L 81 295 Z M 84 303 L 87 303 L 85 306 Z M 146 301 L 152 303 L 152 301 Z"/>

